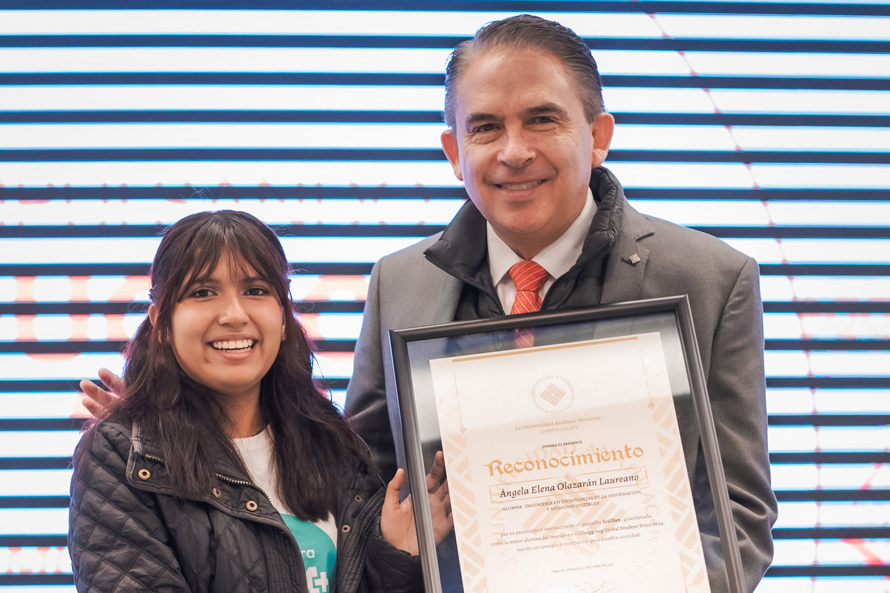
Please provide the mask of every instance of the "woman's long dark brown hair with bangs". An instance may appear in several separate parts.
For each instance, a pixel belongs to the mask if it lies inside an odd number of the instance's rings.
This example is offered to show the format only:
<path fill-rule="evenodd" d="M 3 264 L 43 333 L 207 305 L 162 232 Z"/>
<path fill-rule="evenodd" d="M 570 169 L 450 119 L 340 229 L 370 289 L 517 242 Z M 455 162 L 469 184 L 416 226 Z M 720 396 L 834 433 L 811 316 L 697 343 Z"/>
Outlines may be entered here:
<path fill-rule="evenodd" d="M 171 318 L 191 284 L 209 276 L 221 257 L 230 269 L 251 268 L 271 284 L 284 311 L 285 340 L 260 386 L 260 409 L 271 429 L 279 498 L 303 520 L 336 510 L 341 471 L 368 448 L 346 425 L 312 378 L 312 348 L 293 315 L 290 272 L 278 236 L 247 212 L 199 212 L 167 229 L 151 264 L 154 325 L 146 318 L 125 350 L 125 398 L 115 413 L 139 424 L 163 452 L 174 490 L 207 493 L 218 484 L 208 432 L 241 469 L 214 392 L 182 372 L 171 348 Z"/>

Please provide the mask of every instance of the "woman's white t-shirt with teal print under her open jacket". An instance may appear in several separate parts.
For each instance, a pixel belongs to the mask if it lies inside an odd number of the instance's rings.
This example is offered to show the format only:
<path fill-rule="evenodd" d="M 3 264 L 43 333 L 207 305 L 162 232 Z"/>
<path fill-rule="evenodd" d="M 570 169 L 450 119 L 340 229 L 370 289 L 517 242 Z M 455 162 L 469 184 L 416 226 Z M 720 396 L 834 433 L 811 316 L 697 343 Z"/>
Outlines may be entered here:
<path fill-rule="evenodd" d="M 294 539 L 303 552 L 308 593 L 330 593 L 334 589 L 336 575 L 337 528 L 334 516 L 328 514 L 327 519 L 311 523 L 289 513 L 278 496 L 269 429 L 254 437 L 232 439 L 232 442 L 241 454 L 254 484 L 269 495 L 272 506 L 279 511 L 290 533 L 294 534 Z"/>

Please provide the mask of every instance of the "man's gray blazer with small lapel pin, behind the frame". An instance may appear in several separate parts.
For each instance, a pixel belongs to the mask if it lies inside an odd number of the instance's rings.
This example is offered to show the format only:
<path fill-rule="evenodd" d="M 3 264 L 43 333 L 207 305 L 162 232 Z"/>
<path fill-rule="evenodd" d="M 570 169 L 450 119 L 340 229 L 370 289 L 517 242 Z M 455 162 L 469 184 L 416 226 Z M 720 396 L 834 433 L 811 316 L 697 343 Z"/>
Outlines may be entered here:
<path fill-rule="evenodd" d="M 773 558 L 776 517 L 766 448 L 763 310 L 756 261 L 712 236 L 636 212 L 623 194 L 619 199 L 624 212 L 606 264 L 602 302 L 689 295 L 742 565 L 748 590 L 753 590 Z M 424 257 L 438 237 L 384 257 L 371 273 L 346 413 L 378 454 L 387 478 L 396 458 L 404 466 L 388 331 L 453 321 L 462 289 L 461 281 Z M 677 415 L 684 445 L 696 443 L 699 430 L 692 411 L 678 409 Z M 685 448 L 694 492 L 704 462 L 694 446 Z M 697 512 L 702 523 L 707 520 L 702 513 L 712 509 Z M 706 557 L 720 556 L 714 536 L 703 533 L 702 542 Z M 721 590 L 717 583 L 712 587 Z"/>

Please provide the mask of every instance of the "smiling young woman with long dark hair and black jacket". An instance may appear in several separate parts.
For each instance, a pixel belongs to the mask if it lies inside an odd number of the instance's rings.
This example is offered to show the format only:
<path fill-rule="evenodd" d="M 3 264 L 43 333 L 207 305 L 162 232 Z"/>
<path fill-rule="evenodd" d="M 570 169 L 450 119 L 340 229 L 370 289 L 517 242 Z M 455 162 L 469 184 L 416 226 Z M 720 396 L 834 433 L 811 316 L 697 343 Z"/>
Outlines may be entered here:
<path fill-rule="evenodd" d="M 125 397 L 74 455 L 78 590 L 423 590 L 403 473 L 384 488 L 315 385 L 289 271 L 245 212 L 167 230 Z M 440 540 L 442 470 L 440 455 L 427 484 Z"/>

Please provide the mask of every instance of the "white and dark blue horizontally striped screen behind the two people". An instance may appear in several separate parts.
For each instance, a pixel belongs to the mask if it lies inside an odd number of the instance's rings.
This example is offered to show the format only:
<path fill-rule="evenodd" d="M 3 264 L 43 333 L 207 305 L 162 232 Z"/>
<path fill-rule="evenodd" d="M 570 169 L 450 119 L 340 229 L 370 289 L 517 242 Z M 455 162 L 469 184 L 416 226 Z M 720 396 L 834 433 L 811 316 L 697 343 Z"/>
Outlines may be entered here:
<path fill-rule="evenodd" d="M 890 6 L 24 4 L 0 11 L 0 593 L 73 590 L 73 388 L 121 368 L 163 225 L 278 226 L 343 401 L 371 265 L 465 199 L 449 49 L 515 12 L 593 49 L 635 207 L 760 264 L 780 517 L 758 591 L 890 590 Z"/>

